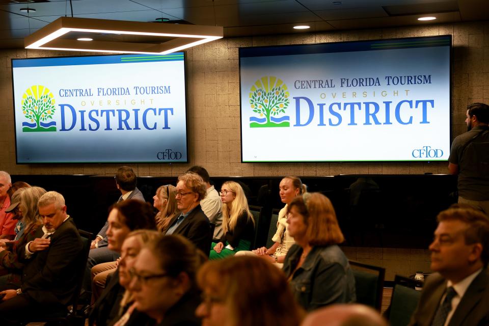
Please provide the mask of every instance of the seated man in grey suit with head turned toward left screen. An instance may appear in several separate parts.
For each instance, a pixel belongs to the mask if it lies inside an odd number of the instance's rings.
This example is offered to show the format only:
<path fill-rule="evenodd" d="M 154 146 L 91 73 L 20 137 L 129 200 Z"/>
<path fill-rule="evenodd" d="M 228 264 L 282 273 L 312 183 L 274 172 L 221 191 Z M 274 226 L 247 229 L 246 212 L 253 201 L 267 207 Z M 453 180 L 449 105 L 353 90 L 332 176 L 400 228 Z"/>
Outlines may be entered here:
<path fill-rule="evenodd" d="M 137 184 L 136 174 L 132 170 L 131 167 L 123 166 L 117 170 L 116 176 L 114 177 L 116 180 L 117 189 L 121 192 L 121 196 L 119 197 L 118 203 L 123 200 L 133 199 L 139 200 L 141 202 L 146 202 L 144 200 L 143 194 L 140 192 Z M 105 262 L 113 262 L 117 258 L 119 258 L 119 253 L 116 253 L 107 248 L 107 236 L 106 232 L 108 229 L 108 222 L 105 222 L 105 225 L 98 232 L 95 239 L 92 241 L 92 246 L 90 247 L 90 253 L 88 255 L 87 267 L 85 269 L 85 277 L 83 280 L 83 290 L 85 292 L 90 292 L 92 290 L 91 283 L 91 270 L 92 267 L 105 263 Z M 83 295 L 85 297 L 85 295 Z"/>

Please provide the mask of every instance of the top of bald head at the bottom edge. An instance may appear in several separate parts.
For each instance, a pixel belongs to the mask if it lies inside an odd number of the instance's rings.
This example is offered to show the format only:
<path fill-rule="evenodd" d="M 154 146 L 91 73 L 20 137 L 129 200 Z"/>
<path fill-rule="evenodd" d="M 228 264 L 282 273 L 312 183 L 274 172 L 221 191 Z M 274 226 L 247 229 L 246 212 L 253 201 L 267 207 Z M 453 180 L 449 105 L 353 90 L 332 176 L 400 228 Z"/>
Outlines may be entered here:
<path fill-rule="evenodd" d="M 388 323 L 368 306 L 337 304 L 311 312 L 301 326 L 388 326 Z"/>

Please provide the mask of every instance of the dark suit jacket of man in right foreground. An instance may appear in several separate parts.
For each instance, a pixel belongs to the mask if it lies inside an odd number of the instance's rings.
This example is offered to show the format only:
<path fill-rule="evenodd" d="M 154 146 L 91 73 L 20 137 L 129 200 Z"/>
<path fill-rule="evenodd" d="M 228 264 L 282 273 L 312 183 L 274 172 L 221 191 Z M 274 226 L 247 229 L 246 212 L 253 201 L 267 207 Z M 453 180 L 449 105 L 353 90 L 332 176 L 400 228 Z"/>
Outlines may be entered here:
<path fill-rule="evenodd" d="M 439 273 L 426 279 L 410 325 L 431 325 L 446 287 L 447 280 Z M 486 268 L 472 281 L 448 323 L 448 326 L 477 325 L 489 325 L 489 274 Z"/>

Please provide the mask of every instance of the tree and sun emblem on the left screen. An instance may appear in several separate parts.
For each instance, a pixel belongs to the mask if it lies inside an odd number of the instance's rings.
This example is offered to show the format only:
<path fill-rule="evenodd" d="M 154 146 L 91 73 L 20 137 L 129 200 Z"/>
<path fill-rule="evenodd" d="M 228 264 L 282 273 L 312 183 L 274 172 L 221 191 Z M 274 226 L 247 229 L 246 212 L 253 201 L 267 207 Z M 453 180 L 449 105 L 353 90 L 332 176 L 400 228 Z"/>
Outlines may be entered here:
<path fill-rule="evenodd" d="M 25 91 L 20 103 L 22 114 L 28 119 L 22 122 L 23 132 L 56 131 L 56 121 L 49 121 L 56 111 L 55 99 L 49 89 L 34 85 Z"/>

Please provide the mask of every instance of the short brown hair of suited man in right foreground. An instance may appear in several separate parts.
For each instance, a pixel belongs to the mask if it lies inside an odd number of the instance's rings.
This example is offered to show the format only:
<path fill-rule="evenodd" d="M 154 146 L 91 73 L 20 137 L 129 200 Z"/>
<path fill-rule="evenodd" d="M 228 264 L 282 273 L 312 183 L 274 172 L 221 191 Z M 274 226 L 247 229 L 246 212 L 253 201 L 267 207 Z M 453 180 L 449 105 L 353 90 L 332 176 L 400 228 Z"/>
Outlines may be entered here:
<path fill-rule="evenodd" d="M 484 266 L 489 262 L 489 218 L 479 210 L 466 205 L 452 205 L 440 212 L 437 216 L 438 223 L 443 221 L 460 221 L 468 225 L 465 231 L 465 243 L 482 244 L 480 259 Z"/>

